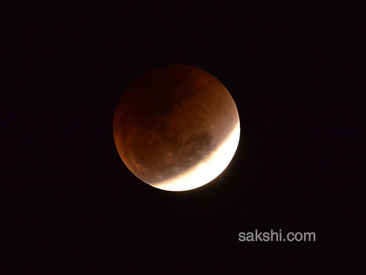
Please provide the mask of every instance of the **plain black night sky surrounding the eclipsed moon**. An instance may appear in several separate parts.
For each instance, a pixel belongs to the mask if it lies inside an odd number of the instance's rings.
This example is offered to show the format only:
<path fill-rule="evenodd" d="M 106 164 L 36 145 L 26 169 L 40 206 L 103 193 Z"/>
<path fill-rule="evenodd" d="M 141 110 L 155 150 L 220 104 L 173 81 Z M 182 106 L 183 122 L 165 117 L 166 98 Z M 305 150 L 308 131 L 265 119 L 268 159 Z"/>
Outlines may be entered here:
<path fill-rule="evenodd" d="M 345 3 L 12 3 L 4 274 L 361 272 L 365 7 Z M 183 192 L 135 177 L 112 131 L 128 85 L 176 63 L 218 78 L 241 126 Z M 316 241 L 238 241 L 255 229 Z"/>

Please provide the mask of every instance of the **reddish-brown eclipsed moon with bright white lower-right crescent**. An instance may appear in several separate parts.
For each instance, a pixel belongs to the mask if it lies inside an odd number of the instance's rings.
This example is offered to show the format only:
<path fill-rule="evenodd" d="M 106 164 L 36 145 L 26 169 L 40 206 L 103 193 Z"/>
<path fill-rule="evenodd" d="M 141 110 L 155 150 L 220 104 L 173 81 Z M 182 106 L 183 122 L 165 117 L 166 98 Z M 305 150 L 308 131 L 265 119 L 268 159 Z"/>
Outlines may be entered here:
<path fill-rule="evenodd" d="M 214 76 L 188 65 L 160 67 L 123 93 L 113 119 L 122 161 L 139 179 L 168 191 L 209 183 L 239 143 L 234 99 Z"/>

